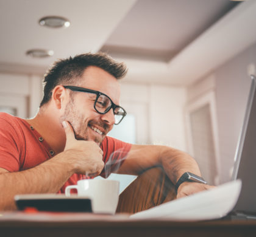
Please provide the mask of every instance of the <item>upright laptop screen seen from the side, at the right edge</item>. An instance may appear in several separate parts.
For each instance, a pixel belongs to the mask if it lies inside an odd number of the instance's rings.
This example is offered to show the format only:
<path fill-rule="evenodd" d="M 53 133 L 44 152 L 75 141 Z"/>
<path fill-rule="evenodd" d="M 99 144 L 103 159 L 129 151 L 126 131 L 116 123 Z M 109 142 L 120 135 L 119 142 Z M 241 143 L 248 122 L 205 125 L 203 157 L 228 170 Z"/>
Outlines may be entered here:
<path fill-rule="evenodd" d="M 256 78 L 252 83 L 247 101 L 244 123 L 235 154 L 232 180 L 241 179 L 242 189 L 234 211 L 256 213 Z"/>

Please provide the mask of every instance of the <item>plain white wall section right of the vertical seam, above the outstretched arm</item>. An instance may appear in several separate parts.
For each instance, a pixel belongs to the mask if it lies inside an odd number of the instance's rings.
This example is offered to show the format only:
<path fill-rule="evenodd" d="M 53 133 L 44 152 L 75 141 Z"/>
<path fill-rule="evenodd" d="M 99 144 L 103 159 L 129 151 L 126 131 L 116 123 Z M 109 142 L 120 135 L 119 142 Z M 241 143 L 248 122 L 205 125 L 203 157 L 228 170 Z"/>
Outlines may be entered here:
<path fill-rule="evenodd" d="M 151 85 L 149 101 L 151 142 L 186 151 L 185 88 Z"/>

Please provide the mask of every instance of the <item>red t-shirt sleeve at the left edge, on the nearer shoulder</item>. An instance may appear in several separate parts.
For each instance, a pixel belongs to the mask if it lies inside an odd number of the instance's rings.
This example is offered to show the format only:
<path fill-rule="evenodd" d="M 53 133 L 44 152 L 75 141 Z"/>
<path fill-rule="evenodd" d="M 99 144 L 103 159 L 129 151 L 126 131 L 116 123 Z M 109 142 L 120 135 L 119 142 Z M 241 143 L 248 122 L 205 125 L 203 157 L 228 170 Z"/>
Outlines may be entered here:
<path fill-rule="evenodd" d="M 20 139 L 7 119 L 0 117 L 0 167 L 10 172 L 20 170 Z"/>

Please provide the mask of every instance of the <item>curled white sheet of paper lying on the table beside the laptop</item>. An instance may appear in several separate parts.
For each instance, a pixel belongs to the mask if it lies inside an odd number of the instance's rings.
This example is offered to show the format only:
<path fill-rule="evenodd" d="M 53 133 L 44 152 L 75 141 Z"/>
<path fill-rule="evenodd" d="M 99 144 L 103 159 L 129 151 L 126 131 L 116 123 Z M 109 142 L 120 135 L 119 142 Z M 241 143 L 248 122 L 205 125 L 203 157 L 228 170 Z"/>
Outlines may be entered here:
<path fill-rule="evenodd" d="M 205 190 L 130 216 L 137 219 L 171 219 L 200 221 L 226 216 L 235 206 L 241 191 L 241 180 Z"/>

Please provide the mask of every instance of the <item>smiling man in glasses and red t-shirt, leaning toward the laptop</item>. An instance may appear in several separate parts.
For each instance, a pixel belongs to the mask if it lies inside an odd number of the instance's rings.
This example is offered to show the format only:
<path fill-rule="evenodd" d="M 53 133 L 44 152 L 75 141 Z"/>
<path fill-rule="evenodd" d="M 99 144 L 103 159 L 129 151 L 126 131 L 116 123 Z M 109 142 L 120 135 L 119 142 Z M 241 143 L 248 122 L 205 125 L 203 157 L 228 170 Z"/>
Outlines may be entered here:
<path fill-rule="evenodd" d="M 44 77 L 44 97 L 34 119 L 0 114 L 0 209 L 13 210 L 15 194 L 63 193 L 67 185 L 99 174 L 138 175 L 162 165 L 174 184 L 196 162 L 167 146 L 131 145 L 107 133 L 126 112 L 119 106 L 124 64 L 104 53 L 60 60 Z M 110 164 L 105 165 L 104 164 Z M 180 182 L 177 197 L 209 188 Z"/>

